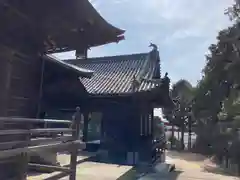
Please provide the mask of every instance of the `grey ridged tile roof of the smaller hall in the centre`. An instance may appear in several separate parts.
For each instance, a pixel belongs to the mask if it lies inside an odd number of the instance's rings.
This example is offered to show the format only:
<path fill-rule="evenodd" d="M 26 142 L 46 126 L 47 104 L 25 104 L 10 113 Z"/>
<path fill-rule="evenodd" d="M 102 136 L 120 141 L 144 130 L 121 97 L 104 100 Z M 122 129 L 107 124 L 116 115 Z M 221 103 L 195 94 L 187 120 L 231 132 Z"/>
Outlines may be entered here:
<path fill-rule="evenodd" d="M 158 60 L 158 52 L 157 56 L 156 53 L 153 56 L 150 52 L 87 60 L 67 60 L 67 62 L 94 71 L 91 79 L 81 78 L 81 82 L 89 93 L 124 94 L 133 92 L 134 78 L 139 80 L 135 92 L 156 87 L 157 84 L 151 79 L 155 76 L 160 78 Z"/>

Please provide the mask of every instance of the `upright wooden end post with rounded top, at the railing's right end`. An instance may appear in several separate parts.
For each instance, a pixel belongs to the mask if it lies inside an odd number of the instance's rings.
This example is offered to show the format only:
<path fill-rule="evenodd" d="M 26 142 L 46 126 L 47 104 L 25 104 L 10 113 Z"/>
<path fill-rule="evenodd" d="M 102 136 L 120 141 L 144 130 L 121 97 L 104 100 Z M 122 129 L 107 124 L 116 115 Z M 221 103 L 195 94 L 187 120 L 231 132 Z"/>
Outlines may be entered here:
<path fill-rule="evenodd" d="M 80 108 L 77 107 L 72 120 L 73 141 L 79 139 L 80 122 L 81 122 L 81 111 L 80 111 Z M 70 152 L 71 152 L 70 169 L 72 172 L 70 174 L 69 180 L 76 180 L 78 146 L 76 144 L 72 145 Z"/>

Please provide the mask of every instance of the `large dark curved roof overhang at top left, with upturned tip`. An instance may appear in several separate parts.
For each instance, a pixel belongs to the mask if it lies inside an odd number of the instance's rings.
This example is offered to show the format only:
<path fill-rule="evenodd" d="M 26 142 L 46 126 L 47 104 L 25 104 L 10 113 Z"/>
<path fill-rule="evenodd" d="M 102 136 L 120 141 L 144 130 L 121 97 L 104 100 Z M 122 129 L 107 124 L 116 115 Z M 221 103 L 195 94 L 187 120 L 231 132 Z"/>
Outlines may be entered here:
<path fill-rule="evenodd" d="M 118 42 L 125 32 L 108 23 L 88 0 L 6 1 L 6 5 L 11 13 L 2 12 L 3 19 L 12 22 L 3 25 L 6 34 L 17 32 L 13 39 L 20 42 L 26 34 L 46 53 Z"/>

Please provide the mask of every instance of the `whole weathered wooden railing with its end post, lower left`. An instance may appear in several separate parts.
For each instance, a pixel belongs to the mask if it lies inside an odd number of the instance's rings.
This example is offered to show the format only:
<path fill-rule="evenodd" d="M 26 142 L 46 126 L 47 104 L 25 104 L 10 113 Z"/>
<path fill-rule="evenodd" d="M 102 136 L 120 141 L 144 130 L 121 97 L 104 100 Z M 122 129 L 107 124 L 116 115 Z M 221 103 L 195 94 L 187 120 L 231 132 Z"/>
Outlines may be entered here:
<path fill-rule="evenodd" d="M 29 166 L 61 171 L 69 176 L 70 180 L 75 180 L 78 149 L 85 146 L 79 140 L 81 121 L 79 110 L 75 113 L 75 117 L 73 126 L 71 126 L 72 121 L 67 120 L 0 117 L 0 163 L 7 163 L 9 159 L 15 161 L 17 173 L 13 179 L 17 180 L 27 178 Z M 39 123 L 66 124 L 66 127 L 69 128 L 34 128 Z M 29 163 L 29 157 L 32 153 L 45 150 L 56 152 L 68 150 L 71 154 L 70 167 Z M 0 177 L 0 179 L 2 178 Z"/>

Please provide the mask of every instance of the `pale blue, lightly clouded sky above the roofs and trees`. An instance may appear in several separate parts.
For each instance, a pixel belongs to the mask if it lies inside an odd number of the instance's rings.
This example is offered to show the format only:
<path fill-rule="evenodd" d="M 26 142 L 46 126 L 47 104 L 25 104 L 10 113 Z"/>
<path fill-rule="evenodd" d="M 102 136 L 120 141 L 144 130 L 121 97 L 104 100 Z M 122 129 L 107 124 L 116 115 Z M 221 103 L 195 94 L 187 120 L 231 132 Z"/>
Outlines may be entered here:
<path fill-rule="evenodd" d="M 148 52 L 159 46 L 162 74 L 172 82 L 187 79 L 196 84 L 204 55 L 219 30 L 230 25 L 224 10 L 233 0 L 90 0 L 108 22 L 126 30 L 125 40 L 92 48 L 89 56 Z M 74 53 L 58 55 L 74 58 Z"/>

